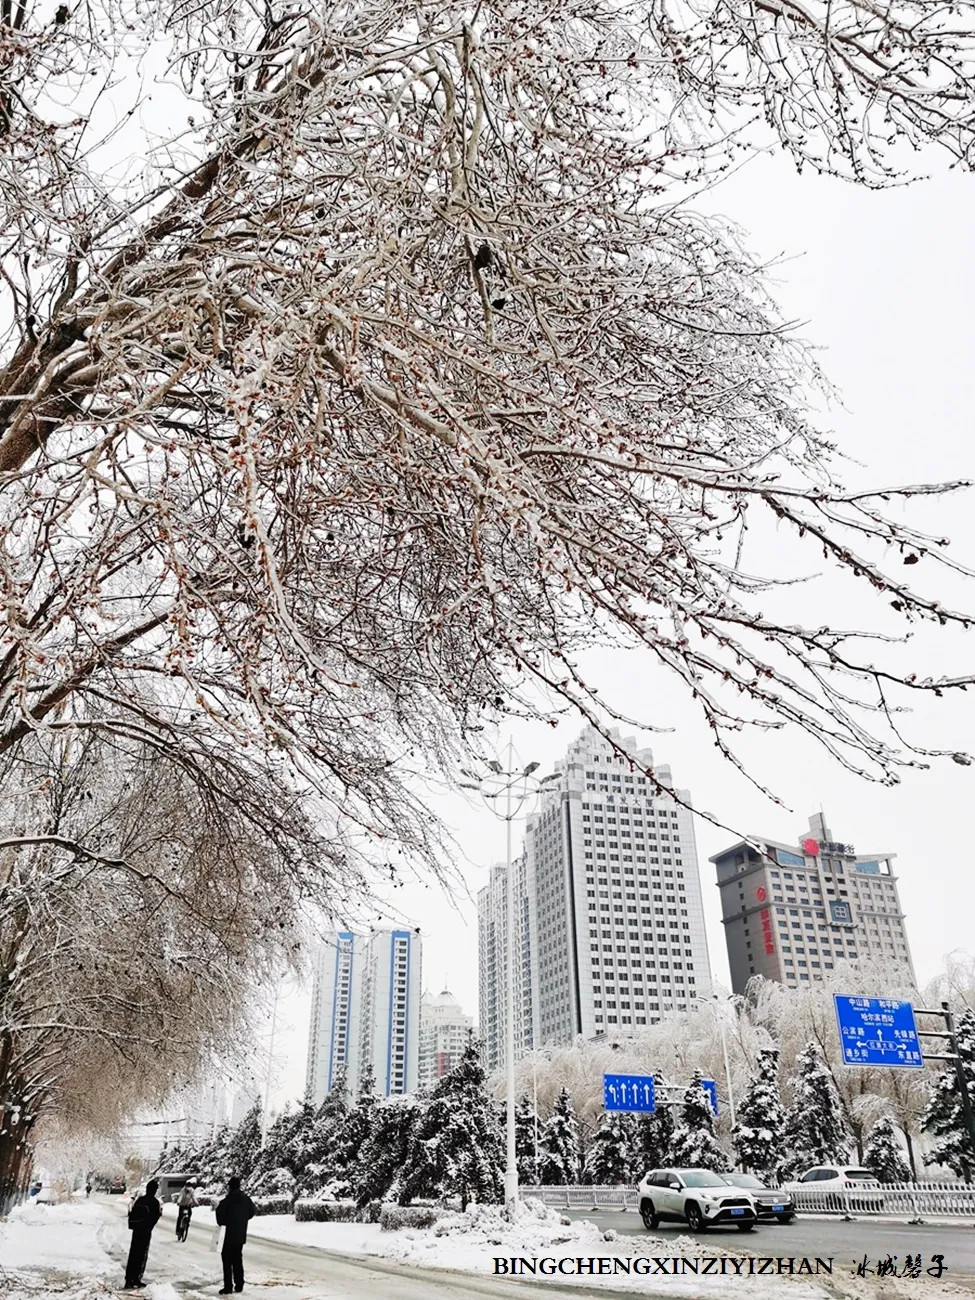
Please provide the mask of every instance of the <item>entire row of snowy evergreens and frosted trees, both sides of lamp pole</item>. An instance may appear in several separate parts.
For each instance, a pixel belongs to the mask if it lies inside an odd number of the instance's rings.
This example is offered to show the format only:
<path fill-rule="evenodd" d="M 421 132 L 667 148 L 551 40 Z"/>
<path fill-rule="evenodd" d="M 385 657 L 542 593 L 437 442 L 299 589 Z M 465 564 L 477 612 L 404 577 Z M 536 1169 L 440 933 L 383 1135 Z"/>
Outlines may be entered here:
<path fill-rule="evenodd" d="M 884 975 L 875 971 L 874 978 Z M 864 971 L 861 980 L 870 982 Z M 968 1180 L 975 1162 L 953 1072 L 913 1074 L 907 1114 L 897 1071 L 837 1069 L 835 1041 L 818 1040 L 812 1014 L 828 991 L 815 991 L 815 997 L 806 992 L 755 988 L 737 1009 L 741 1023 L 729 1053 L 738 1084 L 734 1124 L 728 1122 L 724 1076 L 714 1075 L 712 1065 L 693 1065 L 706 1062 L 714 1015 L 722 1014 L 714 1006 L 633 1039 L 580 1041 L 537 1057 L 532 1091 L 516 1106 L 520 1183 L 630 1184 L 647 1169 L 667 1165 L 737 1167 L 777 1182 L 833 1162 L 864 1165 L 884 1182 L 923 1178 L 926 1164 Z M 797 1004 L 788 1017 L 783 998 Z M 770 1008 L 776 1006 L 780 1036 L 772 1040 Z M 958 1030 L 975 1091 L 975 1010 L 962 1013 Z M 667 1072 L 654 1070 L 656 1113 L 603 1112 L 603 1071 L 646 1070 L 647 1058 L 670 1061 Z M 719 1079 L 725 1096 L 718 1118 L 702 1087 L 708 1076 Z M 521 1084 L 524 1079 L 523 1062 Z M 504 1118 L 490 1083 L 476 1044 L 432 1092 L 380 1098 L 367 1076 L 352 1097 L 339 1078 L 317 1109 L 303 1104 L 278 1115 L 264 1147 L 255 1106 L 237 1128 L 169 1150 L 164 1167 L 195 1175 L 204 1190 L 217 1190 L 238 1173 L 255 1197 L 274 1199 L 278 1208 L 298 1199 L 360 1209 L 386 1200 L 500 1200 Z"/>

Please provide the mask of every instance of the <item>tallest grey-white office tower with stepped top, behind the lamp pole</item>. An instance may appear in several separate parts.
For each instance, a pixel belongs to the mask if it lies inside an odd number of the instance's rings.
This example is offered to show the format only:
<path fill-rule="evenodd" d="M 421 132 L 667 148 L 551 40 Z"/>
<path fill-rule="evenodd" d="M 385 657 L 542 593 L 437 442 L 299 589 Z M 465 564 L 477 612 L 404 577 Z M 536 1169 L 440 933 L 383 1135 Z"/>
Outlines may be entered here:
<path fill-rule="evenodd" d="M 634 741 L 588 728 L 515 863 L 516 1052 L 628 1035 L 711 989 L 690 796 Z M 656 784 L 640 771 L 650 770 Z M 481 1034 L 503 1061 L 504 868 L 478 894 Z"/>

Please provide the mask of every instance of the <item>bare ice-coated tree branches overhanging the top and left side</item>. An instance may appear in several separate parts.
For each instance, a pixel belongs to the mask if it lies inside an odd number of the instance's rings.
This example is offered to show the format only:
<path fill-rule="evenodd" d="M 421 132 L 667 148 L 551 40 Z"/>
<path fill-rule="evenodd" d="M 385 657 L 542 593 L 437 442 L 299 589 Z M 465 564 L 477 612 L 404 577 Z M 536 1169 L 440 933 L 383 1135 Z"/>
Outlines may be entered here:
<path fill-rule="evenodd" d="M 238 1036 L 303 907 L 438 870 L 417 772 L 508 710 L 616 744 L 595 641 L 731 762 L 970 762 L 893 722 L 975 680 L 896 649 L 971 624 L 901 510 L 953 485 L 845 486 L 697 207 L 770 150 L 970 166 L 970 5 L 23 0 L 0 46 L 0 1199 Z M 771 528 L 863 628 L 774 608 Z"/>

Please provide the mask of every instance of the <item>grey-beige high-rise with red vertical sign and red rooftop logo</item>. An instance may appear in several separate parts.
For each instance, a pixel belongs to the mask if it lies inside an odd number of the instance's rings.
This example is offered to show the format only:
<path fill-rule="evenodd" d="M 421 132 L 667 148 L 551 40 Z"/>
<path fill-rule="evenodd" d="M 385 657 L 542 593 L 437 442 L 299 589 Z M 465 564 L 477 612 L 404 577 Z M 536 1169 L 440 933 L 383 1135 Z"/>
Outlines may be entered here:
<path fill-rule="evenodd" d="M 714 854 L 732 988 L 754 975 L 793 988 L 837 961 L 885 958 L 914 983 L 893 853 L 838 844 L 822 812 L 800 844 L 751 837 Z"/>

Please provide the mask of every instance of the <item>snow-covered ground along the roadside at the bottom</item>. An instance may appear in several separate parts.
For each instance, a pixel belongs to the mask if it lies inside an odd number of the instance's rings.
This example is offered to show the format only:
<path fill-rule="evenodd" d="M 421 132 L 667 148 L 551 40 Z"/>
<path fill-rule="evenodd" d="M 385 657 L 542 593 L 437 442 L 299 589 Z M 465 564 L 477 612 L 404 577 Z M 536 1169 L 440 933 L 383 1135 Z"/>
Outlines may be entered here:
<path fill-rule="evenodd" d="M 166 1208 L 168 1212 L 172 1206 Z M 212 1212 L 198 1210 L 200 1218 Z M 166 1214 L 169 1216 L 169 1213 Z M 495 1277 L 495 1258 L 500 1260 L 610 1260 L 642 1258 L 672 1261 L 675 1258 L 715 1260 L 707 1274 L 682 1274 L 671 1265 L 666 1273 L 640 1271 L 594 1275 L 552 1271 L 521 1277 L 519 1294 L 538 1295 L 546 1283 L 560 1287 L 577 1284 L 586 1296 L 602 1292 L 634 1291 L 660 1300 L 971 1300 L 971 1291 L 946 1280 L 900 1278 L 854 1278 L 846 1261 L 836 1261 L 832 1277 L 777 1277 L 748 1273 L 748 1254 L 759 1253 L 751 1239 L 688 1236 L 640 1239 L 616 1238 L 586 1221 L 564 1221 L 558 1210 L 538 1201 L 523 1202 L 523 1213 L 510 1225 L 497 1206 L 473 1206 L 467 1214 L 450 1214 L 433 1228 L 407 1228 L 382 1232 L 370 1223 L 295 1223 L 290 1216 L 266 1216 L 251 1225 L 251 1238 L 317 1247 L 347 1256 L 385 1258 L 408 1268 L 456 1270 L 455 1295 L 465 1295 L 464 1274 Z M 31 1205 L 14 1210 L 0 1222 L 0 1297 L 1 1300 L 110 1300 L 118 1284 L 120 1247 L 127 1245 L 125 1218 L 118 1208 L 96 1201 L 72 1201 L 65 1205 Z M 116 1252 L 112 1258 L 109 1251 Z M 746 1253 L 748 1252 L 748 1253 Z M 722 1265 L 724 1260 L 724 1265 Z M 737 1261 L 741 1271 L 731 1261 Z M 282 1261 L 283 1262 L 283 1261 Z M 287 1261 L 300 1269 L 300 1257 Z M 701 1266 L 701 1265 L 698 1265 Z M 632 1266 L 630 1266 L 632 1268 Z M 724 1271 L 722 1271 L 724 1269 Z M 185 1275 L 185 1274 L 183 1274 Z M 419 1274 L 422 1277 L 422 1274 Z M 512 1279 L 498 1277 L 498 1283 Z M 342 1295 L 365 1295 L 376 1278 L 363 1277 L 367 1291 L 356 1280 Z M 283 1294 L 276 1282 L 276 1296 Z M 260 1292 L 260 1284 L 248 1284 L 248 1292 Z M 443 1273 L 438 1294 L 452 1294 Z M 503 1287 L 499 1287 L 503 1290 Z M 169 1282 L 147 1288 L 148 1300 L 182 1300 Z M 328 1283 L 300 1288 L 303 1300 L 335 1296 Z M 507 1294 L 507 1292 L 506 1292 Z M 199 1292 L 194 1292 L 198 1296 Z"/>

